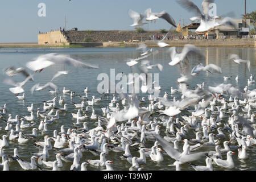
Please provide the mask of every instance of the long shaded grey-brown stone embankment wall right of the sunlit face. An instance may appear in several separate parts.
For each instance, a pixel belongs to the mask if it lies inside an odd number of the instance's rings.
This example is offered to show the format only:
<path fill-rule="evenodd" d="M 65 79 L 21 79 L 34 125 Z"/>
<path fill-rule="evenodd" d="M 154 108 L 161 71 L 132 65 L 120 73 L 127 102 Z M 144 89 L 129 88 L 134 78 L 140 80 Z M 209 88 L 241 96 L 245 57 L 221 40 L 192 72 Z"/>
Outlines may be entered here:
<path fill-rule="evenodd" d="M 150 35 L 162 36 L 166 33 L 160 31 L 145 31 L 141 34 L 137 34 L 135 31 L 65 31 L 68 42 L 85 42 L 85 38 L 92 38 L 93 42 L 129 42 L 133 38 L 144 42 L 149 40 Z M 196 33 L 190 32 L 189 35 L 196 35 Z M 181 36 L 181 33 L 169 32 L 168 36 Z"/>

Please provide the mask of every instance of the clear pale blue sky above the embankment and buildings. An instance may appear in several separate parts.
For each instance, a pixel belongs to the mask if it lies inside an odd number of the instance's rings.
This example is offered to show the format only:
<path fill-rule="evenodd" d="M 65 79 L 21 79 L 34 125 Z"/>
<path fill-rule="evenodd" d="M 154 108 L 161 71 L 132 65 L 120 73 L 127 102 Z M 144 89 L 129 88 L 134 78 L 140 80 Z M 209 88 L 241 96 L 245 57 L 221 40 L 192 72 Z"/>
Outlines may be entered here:
<path fill-rule="evenodd" d="M 203 0 L 191 0 L 201 9 Z M 256 10 L 256 1 L 247 0 L 247 13 Z M 46 16 L 38 16 L 39 3 L 45 3 Z M 245 0 L 216 0 L 217 15 L 233 11 L 232 18 L 241 18 L 245 13 Z M 176 23 L 189 24 L 195 16 L 183 9 L 175 0 L 1 0 L 0 1 L 0 43 L 38 42 L 38 32 L 51 29 L 77 27 L 79 30 L 134 30 L 129 9 L 144 13 L 165 10 Z M 170 29 L 170 24 L 159 19 L 156 23 L 143 26 L 144 30 Z"/>

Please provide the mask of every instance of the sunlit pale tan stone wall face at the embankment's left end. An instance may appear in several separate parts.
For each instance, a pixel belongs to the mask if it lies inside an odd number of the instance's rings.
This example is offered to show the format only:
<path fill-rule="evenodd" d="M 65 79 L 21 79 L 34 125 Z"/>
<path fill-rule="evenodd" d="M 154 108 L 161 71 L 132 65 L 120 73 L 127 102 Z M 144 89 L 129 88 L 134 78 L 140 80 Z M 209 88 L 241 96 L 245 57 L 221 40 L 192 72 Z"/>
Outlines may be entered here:
<path fill-rule="evenodd" d="M 61 31 L 47 32 L 46 34 L 38 34 L 38 44 L 40 45 L 69 45 L 66 38 Z"/>

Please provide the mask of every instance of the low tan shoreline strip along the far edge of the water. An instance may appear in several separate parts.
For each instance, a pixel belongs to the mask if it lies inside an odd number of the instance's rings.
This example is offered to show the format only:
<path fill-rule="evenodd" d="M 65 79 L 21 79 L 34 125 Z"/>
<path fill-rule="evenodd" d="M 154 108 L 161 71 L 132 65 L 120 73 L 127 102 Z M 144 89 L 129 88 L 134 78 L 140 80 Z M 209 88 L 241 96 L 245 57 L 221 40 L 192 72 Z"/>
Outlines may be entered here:
<path fill-rule="evenodd" d="M 83 47 L 137 47 L 138 43 L 144 43 L 148 47 L 158 47 L 154 40 L 145 42 L 84 42 L 70 43 L 69 45 L 42 45 L 38 43 L 0 43 L 0 48 L 83 48 Z M 209 39 L 209 40 L 169 40 L 168 47 L 183 47 L 185 44 L 193 44 L 197 47 L 256 47 L 255 40 L 247 39 Z"/>

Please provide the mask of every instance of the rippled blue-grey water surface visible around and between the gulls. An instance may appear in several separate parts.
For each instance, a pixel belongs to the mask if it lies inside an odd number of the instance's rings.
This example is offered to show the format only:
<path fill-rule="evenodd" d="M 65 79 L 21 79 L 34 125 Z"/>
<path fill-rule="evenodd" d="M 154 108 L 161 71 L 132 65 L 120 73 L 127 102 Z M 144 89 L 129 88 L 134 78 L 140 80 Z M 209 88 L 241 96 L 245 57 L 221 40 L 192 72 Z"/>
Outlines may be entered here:
<path fill-rule="evenodd" d="M 154 48 L 156 49 L 156 48 Z M 200 76 L 196 77 L 192 81 L 189 82 L 190 88 L 193 88 L 197 84 L 201 84 L 202 82 L 205 82 L 205 87 L 207 88 L 209 85 L 217 85 L 221 84 L 223 81 L 223 76 L 232 76 L 232 79 L 229 81 L 226 81 L 228 83 L 233 84 L 234 86 L 237 86 L 237 88 L 244 88 L 245 85 L 247 85 L 247 78 L 250 77 L 250 73 L 255 75 L 255 48 L 228 48 L 228 47 L 220 47 L 220 48 L 201 48 L 203 51 L 205 51 L 206 59 L 202 60 L 199 57 L 192 57 L 190 56 L 189 59 L 191 60 L 192 67 L 198 63 L 203 64 L 216 64 L 219 67 L 222 68 L 222 74 L 210 74 L 209 72 L 202 72 L 200 73 Z M 181 48 L 178 48 L 178 51 L 180 51 Z M 107 73 L 110 76 L 110 69 L 115 68 L 115 75 L 117 73 L 131 73 L 130 68 L 126 65 L 126 60 L 128 58 L 136 58 L 139 57 L 140 52 L 136 51 L 135 48 L 1 48 L 0 49 L 0 69 L 9 67 L 10 65 L 14 65 L 16 68 L 18 67 L 25 67 L 27 61 L 31 61 L 38 57 L 39 55 L 43 55 L 46 53 L 56 52 L 64 55 L 69 55 L 77 60 L 85 60 L 88 63 L 98 64 L 100 66 L 99 69 L 82 69 L 82 68 L 73 68 L 66 65 L 53 65 L 52 67 L 49 67 L 47 69 L 44 69 L 41 73 L 38 73 L 35 75 L 34 79 L 35 82 L 28 81 L 25 87 L 25 93 L 26 93 L 26 100 L 25 101 L 19 101 L 16 99 L 16 97 L 13 95 L 13 93 L 9 92 L 9 88 L 11 86 L 6 84 L 1 84 L 0 86 L 0 93 L 1 93 L 1 100 L 0 105 L 3 105 L 5 103 L 9 104 L 7 113 L 11 113 L 14 116 L 16 114 L 19 115 L 30 115 L 30 113 L 27 111 L 27 105 L 31 105 L 31 103 L 34 103 L 34 108 L 42 108 L 43 107 L 43 101 L 47 101 L 52 99 L 55 96 L 50 96 L 48 90 L 43 90 L 40 92 L 35 92 L 34 95 L 31 95 L 30 88 L 36 84 L 37 82 L 40 82 L 40 84 L 45 84 L 46 82 L 49 82 L 52 78 L 52 76 L 57 71 L 63 71 L 68 70 L 71 71 L 68 75 L 61 75 L 60 77 L 55 78 L 53 80 L 53 83 L 55 83 L 59 87 L 59 94 L 58 96 L 63 96 L 62 89 L 63 86 L 65 86 L 66 89 L 71 89 L 76 92 L 76 94 L 84 95 L 84 88 L 88 86 L 89 92 L 88 96 L 89 98 L 91 96 L 95 96 L 96 98 L 101 97 L 101 94 L 97 92 L 97 85 L 100 83 L 100 81 L 97 80 L 97 76 L 100 73 Z M 233 61 L 228 60 L 228 55 L 230 53 L 236 53 L 237 55 L 240 55 L 242 59 L 247 59 L 251 61 L 251 71 L 250 73 L 246 70 L 246 67 L 244 64 L 235 64 Z M 179 71 L 177 67 L 171 67 L 168 65 L 170 62 L 170 53 L 166 51 L 166 48 L 159 49 L 158 55 L 150 56 L 148 57 L 148 60 L 151 60 L 152 64 L 160 63 L 163 65 L 164 69 L 163 72 L 159 74 L 159 85 L 162 86 L 162 90 L 160 92 L 160 96 L 163 96 L 164 92 L 170 93 L 170 87 L 173 86 L 174 88 L 177 88 L 176 80 L 179 75 Z M 151 70 L 151 73 L 158 73 L 158 69 L 153 68 Z M 236 83 L 234 78 L 236 76 L 239 76 L 239 81 Z M 0 79 L 2 81 L 3 75 L 0 75 Z M 15 81 L 23 81 L 24 77 L 14 76 L 13 77 Z M 118 81 L 116 81 L 117 83 Z M 255 84 L 250 85 L 249 89 L 255 89 Z M 142 96 L 145 96 L 145 94 L 139 94 L 139 98 Z M 58 122 L 53 123 L 50 125 L 49 128 L 49 135 L 53 135 L 53 130 L 57 129 L 60 131 L 60 126 L 64 125 L 65 130 L 69 127 L 71 127 L 71 123 L 75 123 L 76 120 L 72 119 L 72 115 L 70 114 L 72 110 L 75 110 L 75 113 L 77 110 L 75 109 L 75 106 L 72 104 L 72 102 L 79 103 L 81 102 L 79 97 L 71 98 L 69 96 L 63 96 L 65 103 L 68 104 L 69 113 L 60 114 L 60 119 Z M 94 109 L 96 109 L 96 114 L 101 114 L 101 107 L 106 106 L 109 104 L 110 100 L 112 99 L 112 96 L 110 98 L 104 97 L 100 104 L 94 106 Z M 147 105 L 145 105 L 147 106 Z M 92 109 L 89 109 L 89 115 L 92 113 Z M 41 119 L 36 118 L 36 127 L 39 126 L 39 121 Z M 96 127 L 97 124 L 95 124 L 92 119 L 88 119 L 89 124 L 88 127 Z M 0 122 L 0 126 L 4 127 L 6 126 L 5 122 Z M 162 130 L 165 130 L 162 129 Z M 22 129 L 23 133 L 32 133 L 32 129 Z M 0 135 L 7 134 L 5 130 L 0 131 Z M 43 140 L 43 136 L 40 131 L 38 131 L 39 137 L 36 138 L 36 140 Z M 164 135 L 164 133 L 162 133 Z M 189 133 L 189 137 L 195 138 L 195 134 Z M 224 140 L 223 140 L 224 141 Z M 28 144 L 18 144 L 17 141 L 9 141 L 10 144 L 9 147 L 5 148 L 6 154 L 13 154 L 13 149 L 18 148 L 19 155 L 27 161 L 30 161 L 31 154 L 30 152 L 38 152 L 38 148 L 34 147 L 32 145 L 32 140 Z M 151 147 L 154 142 L 147 142 L 147 147 Z M 183 143 L 179 144 L 180 146 L 183 145 Z M 53 146 L 53 142 L 52 142 Z M 221 146 L 223 147 L 223 142 L 221 143 Z M 133 148 L 130 147 L 130 151 L 132 155 L 138 156 L 139 153 Z M 236 168 L 233 170 L 255 170 L 256 167 L 254 163 L 256 162 L 256 155 L 255 155 L 255 148 L 252 147 L 248 151 L 249 153 L 249 159 L 246 159 L 245 161 L 239 160 L 237 158 L 237 154 L 233 156 Z M 47 160 L 55 160 L 55 154 L 57 154 L 57 151 L 51 150 L 49 151 L 49 159 Z M 110 154 L 106 156 L 107 160 L 113 160 L 113 168 L 115 170 L 128 170 L 131 166 L 126 160 L 120 160 L 119 155 L 123 154 L 123 152 L 115 153 L 113 151 L 110 151 Z M 94 156 L 90 152 L 84 152 L 83 157 L 81 159 L 81 162 L 84 162 L 85 159 L 99 159 L 100 156 Z M 226 159 L 226 156 L 224 156 Z M 141 165 L 143 167 L 143 170 L 175 170 L 175 167 L 168 166 L 168 164 L 174 163 L 174 159 L 171 159 L 168 155 L 164 155 L 164 161 L 161 163 L 155 163 L 150 160 L 150 158 L 147 158 L 147 164 Z M 195 164 L 205 164 L 205 158 L 202 158 L 198 161 L 193 162 Z M 64 167 L 61 168 L 61 170 L 69 170 L 71 163 L 65 163 L 63 162 Z M 223 168 L 213 166 L 214 170 L 223 170 Z M 100 168 L 93 168 L 88 165 L 88 170 L 99 170 Z M 188 164 L 184 164 L 181 167 L 182 170 L 193 170 Z M 20 168 L 19 164 L 14 162 L 10 163 L 10 170 L 22 170 Z"/>

